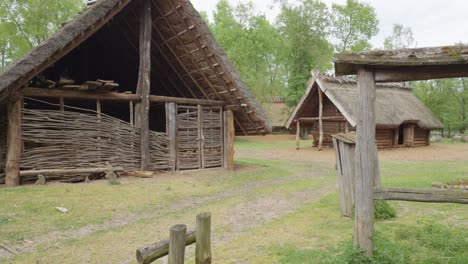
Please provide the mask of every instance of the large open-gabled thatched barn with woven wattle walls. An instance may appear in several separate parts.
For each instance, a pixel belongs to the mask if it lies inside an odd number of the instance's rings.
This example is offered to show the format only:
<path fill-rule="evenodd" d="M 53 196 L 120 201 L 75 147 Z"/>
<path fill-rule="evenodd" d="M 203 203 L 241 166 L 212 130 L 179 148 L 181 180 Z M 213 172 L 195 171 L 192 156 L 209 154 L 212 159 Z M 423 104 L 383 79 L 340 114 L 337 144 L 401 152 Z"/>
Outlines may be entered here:
<path fill-rule="evenodd" d="M 0 102 L 9 186 L 52 169 L 232 167 L 234 131 L 271 130 L 188 0 L 96 1 L 0 73 Z"/>

